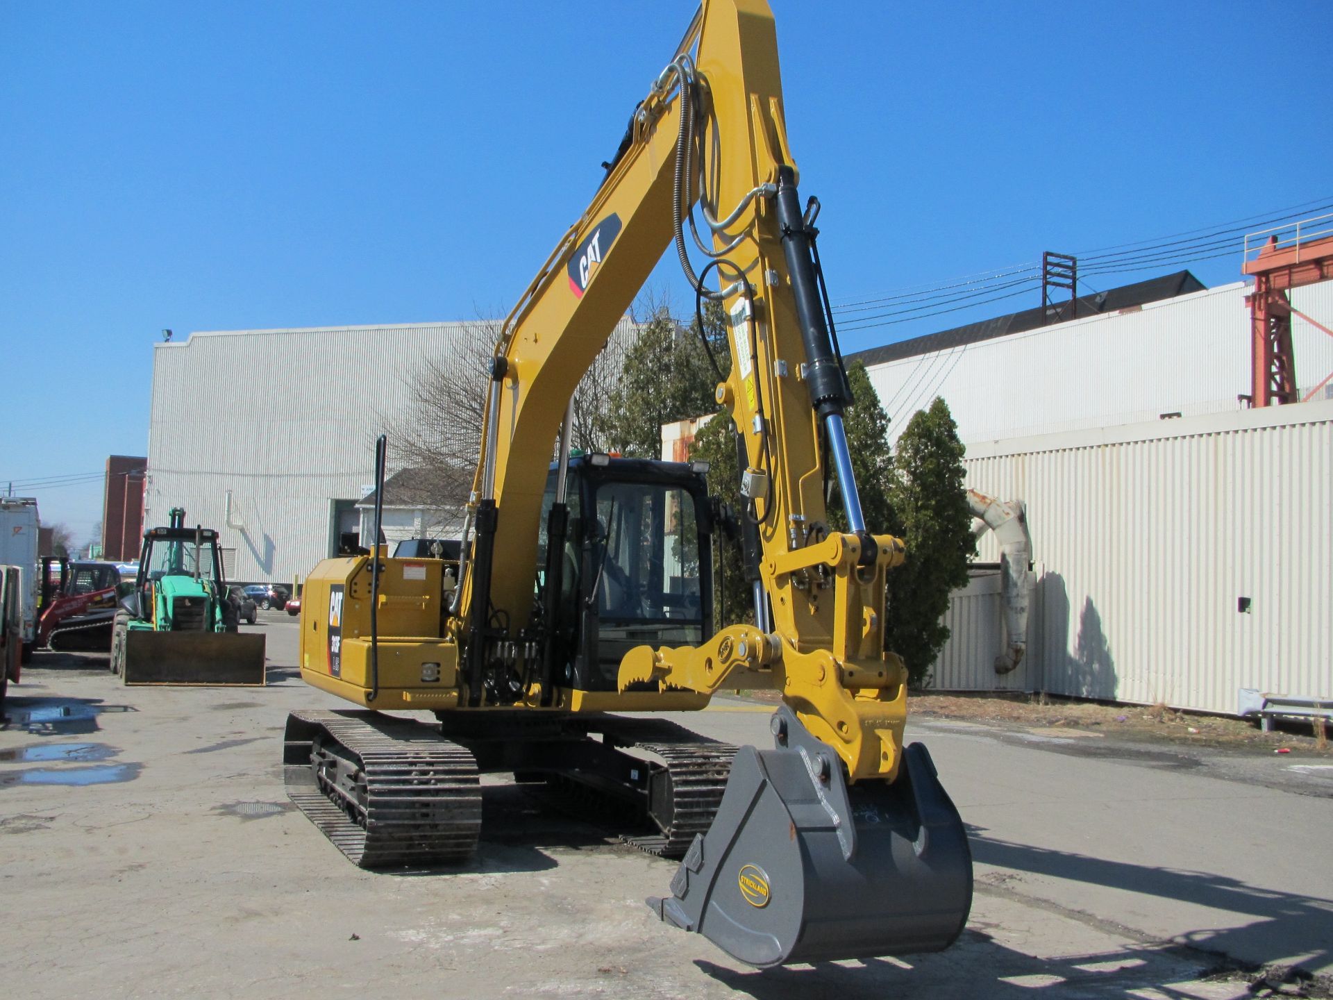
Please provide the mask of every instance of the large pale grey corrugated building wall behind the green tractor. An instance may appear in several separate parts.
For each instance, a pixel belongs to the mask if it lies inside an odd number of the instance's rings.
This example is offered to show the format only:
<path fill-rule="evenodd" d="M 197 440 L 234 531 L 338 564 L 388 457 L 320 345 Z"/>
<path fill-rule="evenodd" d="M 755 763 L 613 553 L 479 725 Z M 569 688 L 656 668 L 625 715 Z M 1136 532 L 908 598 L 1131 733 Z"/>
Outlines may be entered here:
<path fill-rule="evenodd" d="M 613 337 L 633 328 L 623 320 Z M 184 507 L 191 524 L 216 527 L 236 548 L 232 579 L 304 577 L 331 553 L 332 503 L 371 489 L 375 437 L 412 412 L 423 361 L 476 379 L 469 344 L 491 337 L 483 323 L 425 323 L 157 344 L 144 523 L 165 524 Z"/>

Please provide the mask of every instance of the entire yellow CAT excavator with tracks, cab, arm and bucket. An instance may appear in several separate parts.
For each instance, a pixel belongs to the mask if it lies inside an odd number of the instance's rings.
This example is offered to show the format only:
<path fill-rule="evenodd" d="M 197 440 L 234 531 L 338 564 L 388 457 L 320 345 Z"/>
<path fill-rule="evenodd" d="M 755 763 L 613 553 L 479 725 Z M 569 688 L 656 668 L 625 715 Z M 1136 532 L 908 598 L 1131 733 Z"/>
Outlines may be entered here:
<path fill-rule="evenodd" d="M 301 676 L 361 708 L 289 716 L 288 791 L 355 863 L 468 857 L 479 773 L 512 772 L 633 804 L 652 825 L 627 839 L 681 857 L 649 905 L 752 965 L 961 932 L 966 833 L 925 748 L 902 745 L 908 677 L 882 616 L 904 547 L 861 515 L 818 203 L 797 177 L 768 5 L 704 0 L 504 321 L 456 569 L 379 545 L 307 579 Z M 569 457 L 575 388 L 673 241 L 729 317 L 717 401 L 737 428 L 753 624 L 713 621 L 724 519 L 705 468 Z M 383 481 L 383 437 L 376 465 Z M 830 480 L 846 531 L 829 527 Z M 781 692 L 772 749 L 620 715 L 701 709 L 720 688 Z"/>

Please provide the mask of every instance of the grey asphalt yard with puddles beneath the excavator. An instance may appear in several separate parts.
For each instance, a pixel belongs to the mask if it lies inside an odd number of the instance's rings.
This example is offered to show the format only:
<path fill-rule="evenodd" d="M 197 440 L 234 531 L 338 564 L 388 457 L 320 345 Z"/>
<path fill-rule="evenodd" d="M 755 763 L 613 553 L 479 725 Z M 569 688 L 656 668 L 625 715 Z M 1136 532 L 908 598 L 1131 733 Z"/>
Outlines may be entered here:
<path fill-rule="evenodd" d="M 256 629 L 267 688 L 124 688 L 105 657 L 43 653 L 11 687 L 8 995 L 1241 997 L 1256 969 L 1292 965 L 1328 993 L 1333 772 L 1317 765 L 912 724 L 969 827 L 968 931 L 940 955 L 758 972 L 656 921 L 643 899 L 673 863 L 503 781 L 468 865 L 353 868 L 292 811 L 279 763 L 288 711 L 343 703 L 300 681 L 295 620 Z M 768 745 L 768 715 L 722 697 L 674 717 Z"/>

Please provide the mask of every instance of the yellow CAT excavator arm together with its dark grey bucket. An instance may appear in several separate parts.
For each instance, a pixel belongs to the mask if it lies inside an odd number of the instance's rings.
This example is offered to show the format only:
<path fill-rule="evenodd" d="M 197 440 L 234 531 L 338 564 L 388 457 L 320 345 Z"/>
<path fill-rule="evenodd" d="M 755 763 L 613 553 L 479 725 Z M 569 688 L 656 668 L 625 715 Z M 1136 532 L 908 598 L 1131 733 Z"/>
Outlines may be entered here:
<path fill-rule="evenodd" d="M 924 747 L 902 747 L 906 672 L 884 652 L 882 615 L 904 545 L 861 516 L 817 201 L 800 201 L 782 108 L 764 0 L 705 0 L 592 204 L 503 325 L 449 620 L 467 704 L 483 707 L 493 648 L 533 617 L 532 553 L 563 420 L 568 453 L 568 401 L 674 241 L 697 293 L 729 320 L 717 401 L 738 428 L 760 585 L 753 625 L 722 623 L 697 647 L 635 648 L 619 681 L 782 695 L 774 748 L 742 748 L 672 896 L 651 900 L 664 920 L 756 965 L 946 947 L 972 888 L 957 811 Z M 716 291 L 689 243 L 710 260 Z M 844 532 L 829 527 L 830 480 Z M 540 675 L 540 704 L 552 684 Z"/>

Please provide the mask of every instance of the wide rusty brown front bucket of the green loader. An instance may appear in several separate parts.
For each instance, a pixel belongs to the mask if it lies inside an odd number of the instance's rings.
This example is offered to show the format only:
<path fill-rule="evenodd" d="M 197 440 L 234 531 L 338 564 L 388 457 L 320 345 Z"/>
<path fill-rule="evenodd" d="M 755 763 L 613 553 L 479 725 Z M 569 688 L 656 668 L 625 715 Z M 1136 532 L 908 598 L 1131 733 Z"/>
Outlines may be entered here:
<path fill-rule="evenodd" d="M 131 629 L 123 669 L 125 684 L 263 687 L 264 636 Z"/>

